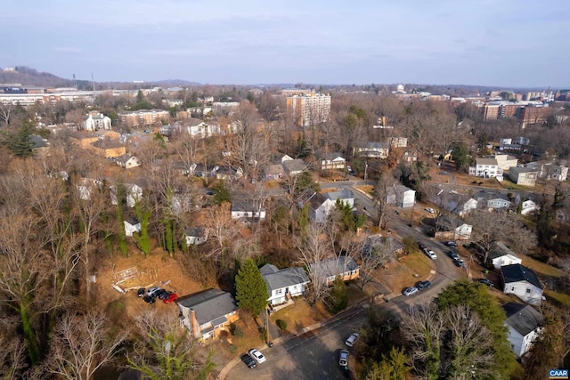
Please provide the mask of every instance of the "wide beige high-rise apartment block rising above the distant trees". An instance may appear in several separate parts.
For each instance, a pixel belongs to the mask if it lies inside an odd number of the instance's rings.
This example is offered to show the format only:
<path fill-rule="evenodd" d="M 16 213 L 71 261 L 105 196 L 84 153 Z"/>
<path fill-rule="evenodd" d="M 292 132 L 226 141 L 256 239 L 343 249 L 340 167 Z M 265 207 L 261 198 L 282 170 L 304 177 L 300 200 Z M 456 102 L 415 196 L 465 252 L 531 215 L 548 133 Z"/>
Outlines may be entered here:
<path fill-rule="evenodd" d="M 287 97 L 287 110 L 298 126 L 324 123 L 330 116 L 330 95 L 307 93 Z"/>

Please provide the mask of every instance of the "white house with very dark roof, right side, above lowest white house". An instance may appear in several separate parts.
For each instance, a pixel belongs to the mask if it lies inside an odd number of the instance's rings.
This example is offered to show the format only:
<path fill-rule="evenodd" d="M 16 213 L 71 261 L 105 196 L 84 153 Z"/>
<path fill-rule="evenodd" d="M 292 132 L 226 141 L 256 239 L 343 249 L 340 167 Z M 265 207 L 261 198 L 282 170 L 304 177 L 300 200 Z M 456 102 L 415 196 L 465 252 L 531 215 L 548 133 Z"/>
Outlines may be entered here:
<path fill-rule="evenodd" d="M 534 305 L 542 302 L 542 285 L 533 270 L 521 264 L 501 266 L 503 293 L 517 295 L 518 298 Z"/>

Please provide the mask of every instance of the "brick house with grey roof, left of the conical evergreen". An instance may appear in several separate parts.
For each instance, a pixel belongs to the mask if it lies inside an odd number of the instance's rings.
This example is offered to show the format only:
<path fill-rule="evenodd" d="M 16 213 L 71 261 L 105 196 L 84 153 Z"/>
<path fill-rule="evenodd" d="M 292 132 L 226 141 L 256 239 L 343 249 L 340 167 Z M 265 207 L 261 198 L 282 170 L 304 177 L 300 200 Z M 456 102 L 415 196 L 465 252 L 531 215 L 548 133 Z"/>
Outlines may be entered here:
<path fill-rule="evenodd" d="M 180 325 L 201 340 L 216 337 L 216 332 L 240 319 L 232 295 L 220 289 L 208 289 L 176 300 Z"/>

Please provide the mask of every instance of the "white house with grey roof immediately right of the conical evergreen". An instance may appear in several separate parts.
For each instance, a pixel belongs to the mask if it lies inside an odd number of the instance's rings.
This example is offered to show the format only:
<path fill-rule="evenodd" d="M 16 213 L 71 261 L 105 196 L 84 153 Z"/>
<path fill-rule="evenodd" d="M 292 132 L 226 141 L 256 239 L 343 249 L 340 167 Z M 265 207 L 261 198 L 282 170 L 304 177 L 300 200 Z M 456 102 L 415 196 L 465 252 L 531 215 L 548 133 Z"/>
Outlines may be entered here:
<path fill-rule="evenodd" d="M 300 267 L 277 269 L 272 264 L 265 264 L 259 271 L 269 288 L 269 304 L 286 303 L 291 297 L 305 293 L 310 282 L 305 270 Z"/>

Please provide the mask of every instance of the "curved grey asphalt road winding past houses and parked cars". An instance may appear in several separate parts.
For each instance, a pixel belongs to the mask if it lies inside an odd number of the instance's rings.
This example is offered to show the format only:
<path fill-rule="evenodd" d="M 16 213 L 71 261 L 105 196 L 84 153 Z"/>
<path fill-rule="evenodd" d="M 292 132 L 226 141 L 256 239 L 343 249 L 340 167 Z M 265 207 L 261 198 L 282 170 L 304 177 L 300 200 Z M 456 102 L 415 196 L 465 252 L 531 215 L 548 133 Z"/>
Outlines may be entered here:
<path fill-rule="evenodd" d="M 353 189 L 356 183 L 358 185 L 365 184 L 364 182 L 325 182 L 321 183 L 321 187 L 322 189 L 353 190 L 354 202 L 357 206 L 366 207 L 370 211 L 374 210 L 371 198 Z M 371 217 L 374 216 L 376 215 L 371 214 Z M 445 255 L 448 248 L 443 244 L 429 239 L 420 230 L 408 226 L 397 214 L 391 215 L 388 223 L 390 228 L 401 237 L 413 236 L 426 247 L 433 249 L 436 252 L 437 260 L 434 261 L 436 273 L 431 280 L 432 286 L 430 288 L 409 297 L 399 295 L 388 303 L 383 303 L 383 307 L 399 313 L 406 312 L 411 304 L 423 303 L 435 297 L 444 287 L 466 275 L 465 270 L 457 268 L 452 260 Z M 271 349 L 265 348 L 263 350 L 267 358 L 265 363 L 257 365 L 254 369 L 249 369 L 240 362 L 230 370 L 226 378 L 232 380 L 249 380 L 252 378 L 260 380 L 335 380 L 346 378 L 342 368 L 338 366 L 338 353 L 341 349 L 347 348 L 344 344 L 346 338 L 366 322 L 366 308 L 367 305 L 357 306 L 330 319 L 322 327 L 295 336 Z"/>

